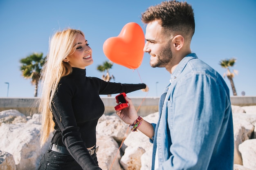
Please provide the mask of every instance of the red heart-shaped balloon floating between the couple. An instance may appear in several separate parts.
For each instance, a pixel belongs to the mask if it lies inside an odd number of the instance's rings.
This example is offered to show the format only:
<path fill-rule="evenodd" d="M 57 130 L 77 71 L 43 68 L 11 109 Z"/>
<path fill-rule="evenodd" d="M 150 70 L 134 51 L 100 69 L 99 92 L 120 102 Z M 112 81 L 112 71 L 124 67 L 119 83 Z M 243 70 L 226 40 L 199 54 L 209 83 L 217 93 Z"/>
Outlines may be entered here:
<path fill-rule="evenodd" d="M 108 38 L 103 44 L 103 52 L 116 64 L 136 69 L 144 55 L 145 38 L 139 24 L 129 22 L 117 37 Z"/>

